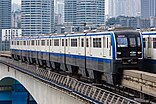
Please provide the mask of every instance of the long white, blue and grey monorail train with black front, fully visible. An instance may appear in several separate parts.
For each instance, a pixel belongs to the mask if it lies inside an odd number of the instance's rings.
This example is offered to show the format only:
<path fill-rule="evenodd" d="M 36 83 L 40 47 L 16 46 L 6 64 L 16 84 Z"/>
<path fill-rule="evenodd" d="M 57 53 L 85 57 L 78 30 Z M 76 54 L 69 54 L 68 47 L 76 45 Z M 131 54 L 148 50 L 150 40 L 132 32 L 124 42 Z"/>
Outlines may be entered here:
<path fill-rule="evenodd" d="M 137 31 L 109 31 L 33 36 L 11 41 L 15 60 L 117 84 L 123 69 L 140 68 L 142 36 Z"/>

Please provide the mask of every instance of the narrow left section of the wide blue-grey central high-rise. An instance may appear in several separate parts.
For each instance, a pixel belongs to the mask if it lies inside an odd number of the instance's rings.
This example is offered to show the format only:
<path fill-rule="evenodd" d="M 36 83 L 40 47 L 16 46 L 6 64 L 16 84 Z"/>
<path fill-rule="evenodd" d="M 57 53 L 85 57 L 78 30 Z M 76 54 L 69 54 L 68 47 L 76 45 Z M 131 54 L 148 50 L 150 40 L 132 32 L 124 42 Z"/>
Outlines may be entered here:
<path fill-rule="evenodd" d="M 64 22 L 76 24 L 76 9 L 78 0 L 64 0 Z"/>

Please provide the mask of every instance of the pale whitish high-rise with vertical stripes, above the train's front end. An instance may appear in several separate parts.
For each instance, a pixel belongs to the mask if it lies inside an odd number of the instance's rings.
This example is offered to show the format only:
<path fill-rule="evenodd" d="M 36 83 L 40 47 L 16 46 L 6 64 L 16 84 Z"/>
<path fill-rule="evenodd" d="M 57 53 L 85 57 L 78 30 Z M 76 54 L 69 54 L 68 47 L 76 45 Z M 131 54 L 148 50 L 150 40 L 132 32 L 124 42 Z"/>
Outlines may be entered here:
<path fill-rule="evenodd" d="M 105 0 L 106 16 L 140 16 L 140 0 Z M 147 0 L 148 1 L 148 0 Z"/>

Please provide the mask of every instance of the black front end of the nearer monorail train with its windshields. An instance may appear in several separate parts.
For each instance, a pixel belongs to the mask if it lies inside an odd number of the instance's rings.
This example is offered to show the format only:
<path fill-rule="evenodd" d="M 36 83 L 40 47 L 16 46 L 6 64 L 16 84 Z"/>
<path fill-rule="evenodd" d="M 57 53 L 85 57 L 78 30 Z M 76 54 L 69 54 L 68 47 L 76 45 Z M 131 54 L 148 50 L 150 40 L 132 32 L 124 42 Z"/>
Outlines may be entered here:
<path fill-rule="evenodd" d="M 114 32 L 116 38 L 115 73 L 125 69 L 141 69 L 143 59 L 142 35 L 137 31 Z"/>

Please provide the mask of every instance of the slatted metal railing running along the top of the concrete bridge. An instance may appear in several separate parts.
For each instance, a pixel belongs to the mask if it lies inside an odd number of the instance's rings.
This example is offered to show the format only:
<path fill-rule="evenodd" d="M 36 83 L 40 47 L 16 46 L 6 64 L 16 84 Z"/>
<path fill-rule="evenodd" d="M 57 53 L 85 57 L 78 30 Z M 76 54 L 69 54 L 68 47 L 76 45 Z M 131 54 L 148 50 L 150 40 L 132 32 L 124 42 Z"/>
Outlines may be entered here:
<path fill-rule="evenodd" d="M 66 90 L 75 96 L 79 96 L 80 98 L 89 101 L 90 103 L 139 104 L 134 100 L 95 87 L 91 84 L 78 81 L 77 79 L 71 78 L 69 76 L 52 72 L 51 70 L 42 69 L 34 65 L 28 65 L 26 63 L 21 63 L 19 61 L 14 61 L 2 57 L 0 57 L 0 63 L 6 64 L 44 82 L 50 83 L 53 86 Z"/>

